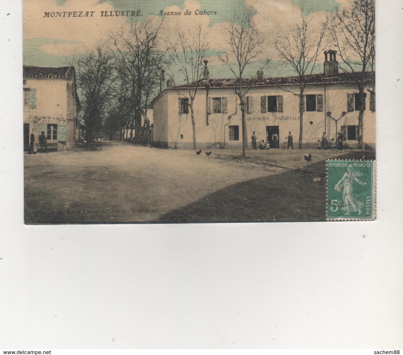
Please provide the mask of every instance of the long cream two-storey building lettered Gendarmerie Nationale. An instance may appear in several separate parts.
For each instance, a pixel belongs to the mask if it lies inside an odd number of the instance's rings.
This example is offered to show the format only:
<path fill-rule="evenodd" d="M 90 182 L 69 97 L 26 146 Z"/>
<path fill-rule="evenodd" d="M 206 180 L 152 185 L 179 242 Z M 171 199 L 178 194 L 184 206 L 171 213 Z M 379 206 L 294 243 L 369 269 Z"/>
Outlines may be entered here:
<path fill-rule="evenodd" d="M 236 79 L 214 79 L 206 75 L 199 82 L 193 102 L 197 148 L 241 148 L 242 113 L 235 94 Z M 271 148 L 284 148 L 289 132 L 298 142 L 299 82 L 297 76 L 257 77 L 244 79 L 249 88 L 246 102 L 248 147 L 251 135 L 256 132 L 258 142 L 266 140 Z M 335 56 L 324 62 L 324 72 L 306 76 L 303 147 L 315 148 L 326 132 L 329 141 L 336 140 L 341 132 L 345 146 L 357 147 L 358 115 L 364 109 L 364 142 L 367 148 L 375 146 L 375 93 L 373 73 L 365 74 L 368 95 L 360 100 L 354 73 L 340 72 Z M 171 85 L 170 85 L 171 84 Z M 190 84 L 194 85 L 194 84 Z M 153 144 L 163 148 L 190 149 L 193 132 L 186 95 L 187 84 L 167 88 L 153 100 Z M 330 113 L 330 114 L 329 114 Z M 337 120 L 337 121 L 336 121 Z M 279 144 L 274 146 L 277 134 Z M 295 144 L 294 144 L 295 146 Z"/>

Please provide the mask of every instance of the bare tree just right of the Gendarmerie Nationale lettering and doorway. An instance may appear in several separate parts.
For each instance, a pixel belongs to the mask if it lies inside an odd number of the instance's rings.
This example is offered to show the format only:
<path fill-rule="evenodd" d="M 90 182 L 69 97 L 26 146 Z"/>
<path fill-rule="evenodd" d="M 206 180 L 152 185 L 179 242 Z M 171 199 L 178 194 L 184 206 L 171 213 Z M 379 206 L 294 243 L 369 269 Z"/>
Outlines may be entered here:
<path fill-rule="evenodd" d="M 298 17 L 287 31 L 279 30 L 274 40 L 273 48 L 277 51 L 280 62 L 289 65 L 298 76 L 298 92 L 291 92 L 299 99 L 299 139 L 298 148 L 302 149 L 303 140 L 303 113 L 305 111 L 304 92 L 307 84 L 307 75 L 314 73 L 320 63 L 319 55 L 324 48 L 324 38 L 327 23 L 315 23 L 315 15 L 308 16 L 309 12 L 300 6 Z"/>

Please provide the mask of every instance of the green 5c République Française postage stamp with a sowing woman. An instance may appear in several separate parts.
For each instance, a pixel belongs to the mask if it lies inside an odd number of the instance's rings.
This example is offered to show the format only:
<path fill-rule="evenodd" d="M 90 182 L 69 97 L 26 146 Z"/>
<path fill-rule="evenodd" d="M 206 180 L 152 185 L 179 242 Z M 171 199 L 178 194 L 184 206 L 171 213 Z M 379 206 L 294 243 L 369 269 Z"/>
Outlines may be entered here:
<path fill-rule="evenodd" d="M 372 221 L 376 216 L 375 161 L 328 160 L 326 219 Z"/>

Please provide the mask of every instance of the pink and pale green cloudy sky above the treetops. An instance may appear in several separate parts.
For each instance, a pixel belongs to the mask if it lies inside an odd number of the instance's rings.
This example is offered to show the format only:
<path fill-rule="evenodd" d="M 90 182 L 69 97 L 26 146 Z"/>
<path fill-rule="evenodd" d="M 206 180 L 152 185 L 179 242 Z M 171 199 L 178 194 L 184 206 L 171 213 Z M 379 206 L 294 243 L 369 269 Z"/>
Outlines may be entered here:
<path fill-rule="evenodd" d="M 348 0 L 305 0 L 304 6 L 319 19 Z M 82 53 L 85 48 L 127 26 L 130 21 L 143 21 L 145 17 L 156 16 L 163 11 L 188 10 L 191 16 L 181 15 L 181 24 L 190 27 L 195 19 L 210 27 L 212 50 L 222 48 L 221 36 L 225 21 L 245 8 L 253 11 L 253 21 L 270 38 L 280 28 L 287 28 L 299 11 L 301 0 L 24 0 L 23 1 L 23 61 L 25 65 L 59 67 L 66 65 L 66 58 L 73 52 Z M 102 17 L 106 11 L 137 11 L 141 17 Z M 195 10 L 214 11 L 214 15 L 194 15 Z M 93 11 L 92 17 L 44 17 L 45 13 Z M 158 17 L 161 18 L 161 17 Z M 177 19 L 175 18 L 175 20 Z M 170 18 L 173 21 L 173 18 Z M 169 21 L 168 29 L 169 31 Z M 216 58 L 210 59 L 210 73 L 222 77 L 224 68 Z M 271 58 L 273 59 L 273 58 Z"/>

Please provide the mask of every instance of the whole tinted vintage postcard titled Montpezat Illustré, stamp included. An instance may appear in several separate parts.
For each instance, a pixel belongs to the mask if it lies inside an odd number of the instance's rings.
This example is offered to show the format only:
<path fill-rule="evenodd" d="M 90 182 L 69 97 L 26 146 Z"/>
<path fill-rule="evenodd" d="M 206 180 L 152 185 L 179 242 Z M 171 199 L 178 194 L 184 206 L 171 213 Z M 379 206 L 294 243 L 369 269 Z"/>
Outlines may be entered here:
<path fill-rule="evenodd" d="M 374 0 L 24 0 L 25 223 L 374 220 L 374 22 Z"/>

